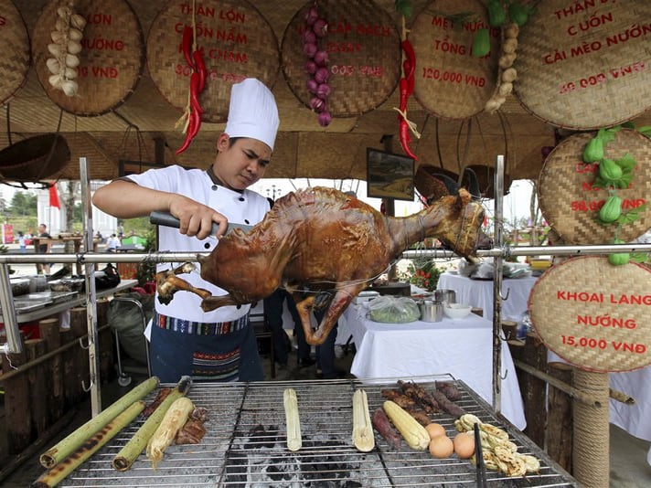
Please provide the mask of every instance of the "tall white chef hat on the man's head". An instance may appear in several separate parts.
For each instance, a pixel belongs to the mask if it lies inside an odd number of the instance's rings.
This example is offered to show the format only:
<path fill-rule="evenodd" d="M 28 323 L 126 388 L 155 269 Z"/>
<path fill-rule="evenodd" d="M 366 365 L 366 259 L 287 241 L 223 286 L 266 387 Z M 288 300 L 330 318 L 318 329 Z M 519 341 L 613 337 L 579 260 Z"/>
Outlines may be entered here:
<path fill-rule="evenodd" d="M 247 78 L 230 90 L 229 137 L 251 137 L 272 148 L 278 132 L 278 108 L 269 90 L 260 80 Z"/>

